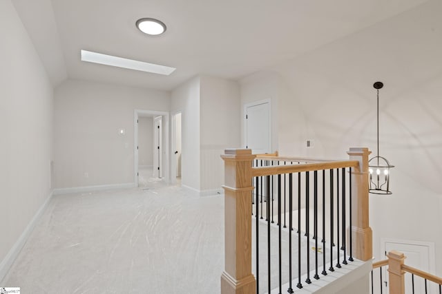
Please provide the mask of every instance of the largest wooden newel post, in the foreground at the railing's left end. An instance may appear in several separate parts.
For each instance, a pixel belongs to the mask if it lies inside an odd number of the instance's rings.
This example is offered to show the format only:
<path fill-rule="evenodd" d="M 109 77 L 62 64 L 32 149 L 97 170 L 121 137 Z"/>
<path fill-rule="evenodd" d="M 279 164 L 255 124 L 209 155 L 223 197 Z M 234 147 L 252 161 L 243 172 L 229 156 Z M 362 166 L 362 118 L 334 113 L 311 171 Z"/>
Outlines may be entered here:
<path fill-rule="evenodd" d="M 251 273 L 251 149 L 226 149 L 224 155 L 224 272 L 222 294 L 254 294 Z"/>

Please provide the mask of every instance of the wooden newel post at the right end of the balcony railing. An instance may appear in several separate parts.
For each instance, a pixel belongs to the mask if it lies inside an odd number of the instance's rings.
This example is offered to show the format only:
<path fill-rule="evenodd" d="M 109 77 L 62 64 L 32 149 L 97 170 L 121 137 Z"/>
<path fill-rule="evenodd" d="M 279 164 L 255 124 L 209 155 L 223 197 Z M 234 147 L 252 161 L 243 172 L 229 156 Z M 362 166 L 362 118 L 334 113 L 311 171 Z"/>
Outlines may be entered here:
<path fill-rule="evenodd" d="M 352 172 L 352 247 L 358 260 L 371 260 L 373 257 L 373 233 L 369 227 L 368 202 L 368 148 L 350 148 L 350 160 L 358 160 L 359 167 Z"/>

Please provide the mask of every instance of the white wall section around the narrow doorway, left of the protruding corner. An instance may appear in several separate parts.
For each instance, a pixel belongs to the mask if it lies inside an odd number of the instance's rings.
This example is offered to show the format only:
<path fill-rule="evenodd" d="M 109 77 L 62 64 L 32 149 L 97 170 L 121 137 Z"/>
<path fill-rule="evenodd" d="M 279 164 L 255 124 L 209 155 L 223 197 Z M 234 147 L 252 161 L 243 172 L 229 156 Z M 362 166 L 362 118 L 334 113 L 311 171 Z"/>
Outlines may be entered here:
<path fill-rule="evenodd" d="M 191 78 L 177 87 L 173 90 L 171 97 L 171 113 L 182 112 L 182 186 L 199 192 L 200 77 Z M 172 152 L 171 156 L 175 154 Z"/>

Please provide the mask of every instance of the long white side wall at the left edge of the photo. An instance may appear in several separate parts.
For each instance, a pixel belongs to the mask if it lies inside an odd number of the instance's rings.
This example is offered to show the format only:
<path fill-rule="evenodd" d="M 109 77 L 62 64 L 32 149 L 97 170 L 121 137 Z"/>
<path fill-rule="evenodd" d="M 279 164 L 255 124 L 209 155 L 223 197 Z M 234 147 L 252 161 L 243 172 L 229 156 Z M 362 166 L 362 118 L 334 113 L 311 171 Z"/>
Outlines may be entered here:
<path fill-rule="evenodd" d="M 53 93 L 10 0 L 0 1 L 0 36 L 1 281 L 50 196 Z"/>

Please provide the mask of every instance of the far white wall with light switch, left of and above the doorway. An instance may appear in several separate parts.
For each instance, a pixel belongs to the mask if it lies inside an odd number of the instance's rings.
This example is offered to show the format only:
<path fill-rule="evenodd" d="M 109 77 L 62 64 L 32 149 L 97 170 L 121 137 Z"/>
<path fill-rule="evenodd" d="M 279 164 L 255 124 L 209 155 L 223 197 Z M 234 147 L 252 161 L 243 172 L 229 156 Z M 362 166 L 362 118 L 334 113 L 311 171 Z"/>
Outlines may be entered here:
<path fill-rule="evenodd" d="M 168 112 L 169 92 L 69 80 L 55 89 L 57 188 L 134 179 L 134 109 Z M 118 129 L 126 129 L 120 136 Z"/>

